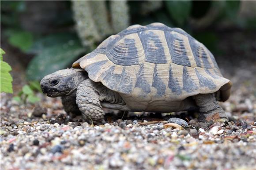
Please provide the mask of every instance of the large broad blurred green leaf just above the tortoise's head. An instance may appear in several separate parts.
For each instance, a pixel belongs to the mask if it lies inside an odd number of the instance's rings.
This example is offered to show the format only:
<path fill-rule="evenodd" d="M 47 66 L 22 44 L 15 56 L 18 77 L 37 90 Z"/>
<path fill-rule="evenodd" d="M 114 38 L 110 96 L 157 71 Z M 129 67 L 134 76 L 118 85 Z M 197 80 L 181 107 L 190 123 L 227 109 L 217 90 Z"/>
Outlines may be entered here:
<path fill-rule="evenodd" d="M 85 48 L 76 36 L 73 36 L 72 39 L 61 36 L 45 37 L 44 40 L 39 40 L 36 44 L 33 49 L 39 53 L 30 61 L 26 70 L 29 80 L 41 80 L 49 73 L 64 69 L 80 54 L 85 53 Z"/>

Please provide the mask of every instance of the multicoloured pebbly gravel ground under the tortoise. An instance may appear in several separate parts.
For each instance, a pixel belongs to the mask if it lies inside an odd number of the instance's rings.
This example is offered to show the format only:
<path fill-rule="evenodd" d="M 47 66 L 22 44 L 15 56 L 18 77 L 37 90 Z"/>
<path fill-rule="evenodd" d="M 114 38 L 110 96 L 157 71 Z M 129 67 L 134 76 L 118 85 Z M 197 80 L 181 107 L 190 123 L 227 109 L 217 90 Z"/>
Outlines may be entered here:
<path fill-rule="evenodd" d="M 221 104 L 231 121 L 211 127 L 188 112 L 177 114 L 187 127 L 127 115 L 93 126 L 67 116 L 59 98 L 19 105 L 1 94 L 1 169 L 256 169 L 254 72 L 237 74 L 229 78 L 239 88 Z"/>

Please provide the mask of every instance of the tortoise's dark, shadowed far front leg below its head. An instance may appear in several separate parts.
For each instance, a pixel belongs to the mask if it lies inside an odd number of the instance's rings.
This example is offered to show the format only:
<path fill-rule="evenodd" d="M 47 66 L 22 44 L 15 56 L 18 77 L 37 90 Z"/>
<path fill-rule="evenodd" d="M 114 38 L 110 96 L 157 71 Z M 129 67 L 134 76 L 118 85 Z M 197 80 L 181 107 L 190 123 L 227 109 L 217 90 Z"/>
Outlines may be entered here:
<path fill-rule="evenodd" d="M 70 96 L 61 97 L 62 105 L 64 107 L 65 112 L 71 117 L 81 115 L 81 112 L 78 106 L 75 103 L 76 94 L 71 94 Z"/>

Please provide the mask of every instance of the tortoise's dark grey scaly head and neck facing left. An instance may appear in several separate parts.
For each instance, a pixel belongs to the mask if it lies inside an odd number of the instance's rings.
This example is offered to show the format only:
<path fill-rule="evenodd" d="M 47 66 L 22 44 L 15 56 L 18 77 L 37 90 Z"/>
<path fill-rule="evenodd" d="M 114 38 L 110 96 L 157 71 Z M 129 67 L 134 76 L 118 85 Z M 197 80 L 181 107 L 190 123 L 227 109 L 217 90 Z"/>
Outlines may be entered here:
<path fill-rule="evenodd" d="M 63 69 L 45 76 L 40 85 L 44 94 L 55 98 L 72 94 L 79 83 L 87 78 L 87 72 L 83 69 Z"/>

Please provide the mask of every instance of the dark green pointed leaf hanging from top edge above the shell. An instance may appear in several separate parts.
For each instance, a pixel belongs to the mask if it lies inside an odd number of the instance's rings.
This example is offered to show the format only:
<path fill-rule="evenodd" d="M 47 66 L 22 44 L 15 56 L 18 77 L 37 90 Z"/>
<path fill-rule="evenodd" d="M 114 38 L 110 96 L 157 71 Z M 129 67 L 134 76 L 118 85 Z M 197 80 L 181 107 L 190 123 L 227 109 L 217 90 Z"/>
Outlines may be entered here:
<path fill-rule="evenodd" d="M 167 10 L 171 18 L 179 25 L 184 25 L 184 22 L 188 19 L 192 7 L 191 1 L 182 0 L 168 0 L 165 1 Z"/>

